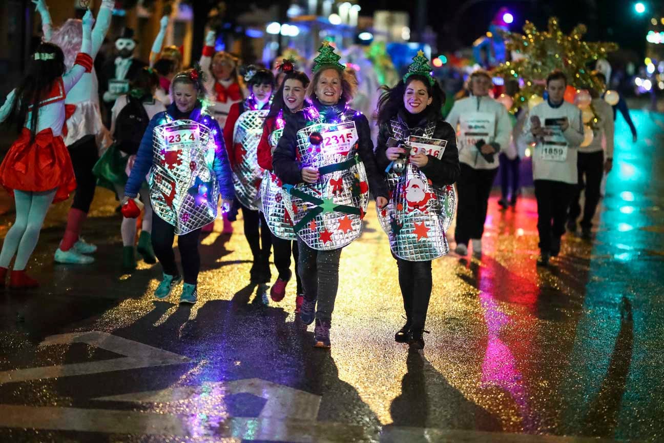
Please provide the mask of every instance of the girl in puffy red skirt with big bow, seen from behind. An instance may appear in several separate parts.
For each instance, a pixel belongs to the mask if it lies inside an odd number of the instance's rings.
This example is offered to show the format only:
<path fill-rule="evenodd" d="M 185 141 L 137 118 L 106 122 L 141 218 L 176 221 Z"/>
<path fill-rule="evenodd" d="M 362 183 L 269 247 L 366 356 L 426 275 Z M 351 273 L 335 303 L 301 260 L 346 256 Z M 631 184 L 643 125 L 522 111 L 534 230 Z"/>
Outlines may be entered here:
<path fill-rule="evenodd" d="M 67 199 L 76 189 L 72 161 L 62 141 L 66 128 L 64 100 L 83 74 L 92 72 L 93 22 L 92 13 L 86 12 L 81 52 L 68 71 L 59 46 L 39 44 L 25 78 L 0 108 L 0 122 L 20 134 L 0 165 L 0 183 L 13 193 L 16 202 L 16 221 L 7 232 L 0 253 L 2 286 L 14 255 L 9 286 L 39 286 L 37 280 L 25 274 L 25 266 L 37 246 L 48 207 L 54 201 Z"/>

